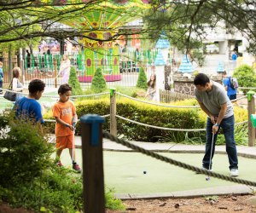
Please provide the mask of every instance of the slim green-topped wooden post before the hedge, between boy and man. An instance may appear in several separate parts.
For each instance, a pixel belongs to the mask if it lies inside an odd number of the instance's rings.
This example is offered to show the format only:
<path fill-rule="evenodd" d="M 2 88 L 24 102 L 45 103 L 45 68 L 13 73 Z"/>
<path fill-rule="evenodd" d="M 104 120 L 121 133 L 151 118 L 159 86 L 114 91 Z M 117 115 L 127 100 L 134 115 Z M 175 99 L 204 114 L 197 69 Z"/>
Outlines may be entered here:
<path fill-rule="evenodd" d="M 110 89 L 110 134 L 117 135 L 115 89 Z"/>

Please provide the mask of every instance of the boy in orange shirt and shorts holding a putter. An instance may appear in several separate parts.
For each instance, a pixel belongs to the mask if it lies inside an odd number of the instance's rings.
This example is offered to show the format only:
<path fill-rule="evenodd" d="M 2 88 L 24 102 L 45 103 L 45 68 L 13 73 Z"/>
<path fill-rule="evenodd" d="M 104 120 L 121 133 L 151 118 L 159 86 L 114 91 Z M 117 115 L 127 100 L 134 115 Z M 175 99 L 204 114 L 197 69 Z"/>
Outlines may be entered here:
<path fill-rule="evenodd" d="M 80 171 L 79 164 L 76 163 L 75 145 L 74 145 L 74 124 L 78 120 L 76 108 L 72 101 L 69 101 L 69 96 L 72 94 L 72 87 L 67 83 L 62 84 L 58 89 L 60 100 L 55 103 L 52 108 L 53 116 L 56 120 L 55 136 L 56 136 L 56 152 L 57 157 L 61 158 L 62 150 L 69 149 L 70 157 L 72 158 L 73 170 Z M 61 160 L 57 163 L 62 166 Z"/>

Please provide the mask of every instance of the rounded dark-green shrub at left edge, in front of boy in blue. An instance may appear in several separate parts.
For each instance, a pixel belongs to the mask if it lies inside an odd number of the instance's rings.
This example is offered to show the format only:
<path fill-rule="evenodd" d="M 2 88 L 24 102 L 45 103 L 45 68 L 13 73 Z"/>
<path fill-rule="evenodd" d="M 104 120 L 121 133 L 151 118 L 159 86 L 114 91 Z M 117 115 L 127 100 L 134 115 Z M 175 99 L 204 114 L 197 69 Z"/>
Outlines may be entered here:
<path fill-rule="evenodd" d="M 0 138 L 0 185 L 19 186 L 27 183 L 41 171 L 52 166 L 53 148 L 44 139 L 37 125 L 20 121 L 12 113 L 0 116 L 0 130 L 5 136 Z"/>

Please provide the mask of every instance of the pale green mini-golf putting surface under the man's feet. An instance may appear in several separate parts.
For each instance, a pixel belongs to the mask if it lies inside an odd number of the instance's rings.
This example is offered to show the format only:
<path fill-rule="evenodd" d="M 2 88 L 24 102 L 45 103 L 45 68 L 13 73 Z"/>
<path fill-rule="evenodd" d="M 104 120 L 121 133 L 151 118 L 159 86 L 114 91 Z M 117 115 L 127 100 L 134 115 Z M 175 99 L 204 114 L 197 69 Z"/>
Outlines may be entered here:
<path fill-rule="evenodd" d="M 77 149 L 77 161 L 82 162 L 81 149 Z M 203 153 L 160 153 L 186 164 L 201 168 Z M 238 157 L 239 178 L 256 180 L 253 172 L 255 159 Z M 62 164 L 71 166 L 67 149 L 61 156 Z M 212 160 L 212 169 L 223 175 L 230 175 L 227 154 L 216 154 Z M 211 177 L 206 181 L 205 175 L 197 175 L 190 170 L 167 164 L 158 159 L 132 152 L 104 151 L 105 185 L 113 188 L 115 193 L 170 193 L 207 187 L 234 186 L 237 183 L 222 181 Z"/>

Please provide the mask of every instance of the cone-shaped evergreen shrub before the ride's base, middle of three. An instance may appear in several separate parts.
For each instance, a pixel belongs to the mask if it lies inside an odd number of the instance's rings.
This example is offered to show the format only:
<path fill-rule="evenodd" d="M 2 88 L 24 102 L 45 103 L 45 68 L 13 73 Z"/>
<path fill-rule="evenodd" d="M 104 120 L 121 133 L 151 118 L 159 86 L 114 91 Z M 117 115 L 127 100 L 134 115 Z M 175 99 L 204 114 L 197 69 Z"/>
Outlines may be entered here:
<path fill-rule="evenodd" d="M 107 89 L 107 83 L 102 75 L 101 68 L 97 68 L 92 78 L 90 89 L 95 93 L 101 93 Z"/>

